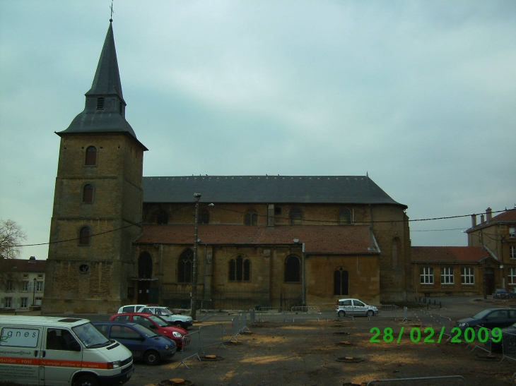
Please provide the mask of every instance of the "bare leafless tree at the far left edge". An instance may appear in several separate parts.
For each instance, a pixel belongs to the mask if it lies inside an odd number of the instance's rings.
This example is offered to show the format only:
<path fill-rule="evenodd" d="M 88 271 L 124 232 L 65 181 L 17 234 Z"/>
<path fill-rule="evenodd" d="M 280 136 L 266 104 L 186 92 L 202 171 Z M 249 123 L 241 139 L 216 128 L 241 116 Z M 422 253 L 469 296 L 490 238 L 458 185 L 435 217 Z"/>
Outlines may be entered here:
<path fill-rule="evenodd" d="M 8 264 L 8 259 L 16 259 L 21 252 L 21 244 L 27 236 L 13 220 L 0 219 L 0 288 L 6 289 L 8 282 L 16 281 Z"/>

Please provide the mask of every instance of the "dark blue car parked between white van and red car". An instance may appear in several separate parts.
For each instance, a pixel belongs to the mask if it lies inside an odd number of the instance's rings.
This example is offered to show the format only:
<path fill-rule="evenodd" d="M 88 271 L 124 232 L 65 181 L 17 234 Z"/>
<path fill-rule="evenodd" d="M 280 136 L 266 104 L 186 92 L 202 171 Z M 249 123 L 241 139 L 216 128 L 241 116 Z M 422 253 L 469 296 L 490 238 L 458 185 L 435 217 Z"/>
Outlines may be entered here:
<path fill-rule="evenodd" d="M 157 365 L 162 359 L 172 358 L 177 349 L 172 339 L 138 323 L 105 321 L 92 324 L 107 338 L 126 346 L 134 360 L 145 361 L 148 365 Z"/>

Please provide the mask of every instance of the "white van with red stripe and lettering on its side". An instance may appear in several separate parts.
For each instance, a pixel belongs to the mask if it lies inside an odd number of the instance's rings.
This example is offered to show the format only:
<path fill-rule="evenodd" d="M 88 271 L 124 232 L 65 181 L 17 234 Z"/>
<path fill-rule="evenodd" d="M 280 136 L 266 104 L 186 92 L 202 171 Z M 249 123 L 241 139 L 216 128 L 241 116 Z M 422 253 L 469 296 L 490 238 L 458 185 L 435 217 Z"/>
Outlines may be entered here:
<path fill-rule="evenodd" d="M 121 385 L 134 372 L 125 346 L 89 320 L 0 315 L 0 380 L 21 385 Z"/>

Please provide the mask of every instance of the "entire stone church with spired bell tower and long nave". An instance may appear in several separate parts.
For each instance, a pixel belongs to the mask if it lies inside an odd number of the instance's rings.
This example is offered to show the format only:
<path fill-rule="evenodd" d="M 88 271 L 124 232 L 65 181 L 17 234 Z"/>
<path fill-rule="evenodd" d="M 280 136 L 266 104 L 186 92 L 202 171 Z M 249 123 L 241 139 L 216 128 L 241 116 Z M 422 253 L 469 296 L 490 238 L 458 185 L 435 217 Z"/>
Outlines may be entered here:
<path fill-rule="evenodd" d="M 43 313 L 333 309 L 411 294 L 409 219 L 365 176 L 143 177 L 112 22 L 61 138 Z"/>

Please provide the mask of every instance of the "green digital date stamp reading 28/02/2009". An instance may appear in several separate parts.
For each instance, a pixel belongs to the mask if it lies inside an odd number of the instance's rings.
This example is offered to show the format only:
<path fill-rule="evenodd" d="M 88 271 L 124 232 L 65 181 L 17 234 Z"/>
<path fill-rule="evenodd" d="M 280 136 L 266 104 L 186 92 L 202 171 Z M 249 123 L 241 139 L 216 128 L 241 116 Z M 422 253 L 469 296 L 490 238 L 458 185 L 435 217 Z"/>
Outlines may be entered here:
<path fill-rule="evenodd" d="M 405 330 L 405 327 L 402 326 L 398 333 L 398 338 L 396 340 L 396 343 L 401 342 L 401 338 L 403 337 L 403 332 Z M 437 330 L 439 332 L 439 330 Z M 373 327 L 369 331 L 371 334 L 373 334 L 373 337 L 369 339 L 370 343 L 380 343 L 382 340 L 380 339 L 380 336 L 382 335 L 382 332 L 378 327 Z M 425 330 L 423 330 L 423 334 L 426 334 L 426 337 L 424 337 L 423 341 L 421 341 L 421 330 L 419 330 L 419 327 L 414 327 L 410 330 L 409 336 L 413 343 L 423 342 L 423 343 L 440 343 L 442 336 L 445 334 L 445 327 L 441 327 L 437 342 L 434 339 L 435 330 L 433 327 L 426 327 Z M 461 335 L 464 336 L 464 342 L 471 343 L 475 340 L 475 334 L 476 331 L 471 328 L 467 327 L 465 330 L 461 330 L 458 327 L 453 327 L 450 335 L 450 342 L 452 343 L 462 343 Z M 478 332 L 478 339 L 479 342 L 485 343 L 488 341 L 488 339 L 493 340 L 493 342 L 500 342 L 502 340 L 502 330 L 500 328 L 495 327 L 493 330 L 491 330 L 491 333 L 486 327 L 481 327 Z M 383 342 L 385 343 L 392 343 L 394 342 L 394 334 L 391 327 L 385 327 L 383 329 Z"/>

